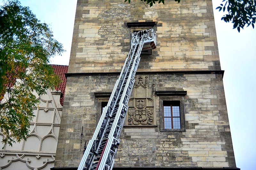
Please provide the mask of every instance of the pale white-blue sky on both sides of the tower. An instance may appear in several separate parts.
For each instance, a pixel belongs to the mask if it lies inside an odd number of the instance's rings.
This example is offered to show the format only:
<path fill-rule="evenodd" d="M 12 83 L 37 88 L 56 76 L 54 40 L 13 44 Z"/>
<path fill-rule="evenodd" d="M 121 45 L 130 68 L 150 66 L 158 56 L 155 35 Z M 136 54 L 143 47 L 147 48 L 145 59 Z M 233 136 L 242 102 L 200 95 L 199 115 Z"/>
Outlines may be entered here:
<path fill-rule="evenodd" d="M 215 9 L 222 0 L 213 0 Z M 52 64 L 68 65 L 74 27 L 76 0 L 20 0 L 42 22 L 50 25 L 54 37 L 66 50 L 52 59 Z M 222 12 L 214 11 L 221 69 L 228 117 L 236 158 L 242 170 L 255 169 L 256 112 L 256 30 L 252 26 L 233 30 L 232 24 L 221 21 Z"/>

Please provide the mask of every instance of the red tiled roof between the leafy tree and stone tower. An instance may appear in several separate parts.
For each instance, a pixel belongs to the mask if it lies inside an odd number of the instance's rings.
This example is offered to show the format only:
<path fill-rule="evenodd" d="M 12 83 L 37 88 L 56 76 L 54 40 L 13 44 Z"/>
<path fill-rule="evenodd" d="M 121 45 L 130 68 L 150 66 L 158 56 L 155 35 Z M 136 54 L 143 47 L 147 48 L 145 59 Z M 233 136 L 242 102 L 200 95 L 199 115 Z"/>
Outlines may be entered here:
<path fill-rule="evenodd" d="M 65 89 L 66 89 L 66 83 L 67 83 L 67 79 L 65 77 L 65 73 L 68 72 L 68 66 L 67 65 L 52 65 L 52 68 L 54 69 L 54 73 L 60 76 L 60 79 L 62 80 L 62 82 L 60 83 L 60 85 L 55 88 L 55 90 L 60 90 L 62 92 L 62 95 L 60 96 L 60 104 L 61 106 L 63 106 L 63 101 L 64 101 L 64 95 L 65 95 Z"/>

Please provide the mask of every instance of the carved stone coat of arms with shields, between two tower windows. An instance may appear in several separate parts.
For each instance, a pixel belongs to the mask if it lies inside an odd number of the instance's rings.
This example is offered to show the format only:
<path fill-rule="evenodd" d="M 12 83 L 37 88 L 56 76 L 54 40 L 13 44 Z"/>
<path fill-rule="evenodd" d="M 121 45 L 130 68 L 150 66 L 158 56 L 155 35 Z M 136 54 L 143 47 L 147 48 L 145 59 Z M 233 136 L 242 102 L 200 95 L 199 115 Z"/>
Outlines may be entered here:
<path fill-rule="evenodd" d="M 128 109 L 128 125 L 152 125 L 153 108 L 145 107 L 146 100 L 136 100 L 136 107 Z"/>

